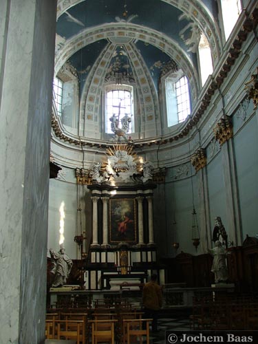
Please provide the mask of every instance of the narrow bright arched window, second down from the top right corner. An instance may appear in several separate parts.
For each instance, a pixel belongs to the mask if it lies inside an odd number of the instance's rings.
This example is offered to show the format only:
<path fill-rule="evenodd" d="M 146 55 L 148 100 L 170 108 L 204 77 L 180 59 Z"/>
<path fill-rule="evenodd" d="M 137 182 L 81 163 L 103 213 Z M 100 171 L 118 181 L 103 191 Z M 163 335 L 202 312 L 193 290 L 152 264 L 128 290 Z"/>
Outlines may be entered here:
<path fill-rule="evenodd" d="M 202 86 L 205 84 L 208 76 L 213 74 L 213 60 L 211 58 L 211 48 L 205 34 L 201 34 L 198 47 L 199 63 L 202 78 Z"/>

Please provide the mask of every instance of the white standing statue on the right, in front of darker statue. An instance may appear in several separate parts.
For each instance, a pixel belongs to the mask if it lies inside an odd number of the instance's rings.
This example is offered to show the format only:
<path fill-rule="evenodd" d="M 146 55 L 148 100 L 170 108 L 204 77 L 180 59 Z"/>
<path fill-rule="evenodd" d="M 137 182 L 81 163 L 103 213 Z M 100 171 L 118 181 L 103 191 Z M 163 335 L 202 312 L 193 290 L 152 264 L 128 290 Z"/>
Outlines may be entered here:
<path fill-rule="evenodd" d="M 215 283 L 226 282 L 228 280 L 228 268 L 226 266 L 226 255 L 228 255 L 228 252 L 219 240 L 215 242 L 215 248 L 211 248 L 208 251 L 213 255 L 211 272 L 215 274 Z"/>

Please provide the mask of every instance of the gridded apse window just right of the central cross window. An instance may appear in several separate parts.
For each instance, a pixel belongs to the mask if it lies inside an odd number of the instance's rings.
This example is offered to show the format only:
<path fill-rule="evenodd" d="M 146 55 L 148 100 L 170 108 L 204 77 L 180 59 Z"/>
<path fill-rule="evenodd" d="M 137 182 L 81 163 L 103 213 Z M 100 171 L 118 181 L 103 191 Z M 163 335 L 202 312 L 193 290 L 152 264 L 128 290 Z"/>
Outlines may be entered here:
<path fill-rule="evenodd" d="M 166 77 L 165 87 L 167 125 L 171 127 L 191 114 L 189 83 L 179 71 L 176 75 Z"/>

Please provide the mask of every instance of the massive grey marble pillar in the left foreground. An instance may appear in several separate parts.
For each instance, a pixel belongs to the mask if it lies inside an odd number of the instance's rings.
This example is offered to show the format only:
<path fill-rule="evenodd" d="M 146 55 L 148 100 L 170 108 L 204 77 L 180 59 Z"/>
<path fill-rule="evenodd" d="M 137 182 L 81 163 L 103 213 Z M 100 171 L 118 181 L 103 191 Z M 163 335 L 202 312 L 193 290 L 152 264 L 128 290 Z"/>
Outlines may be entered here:
<path fill-rule="evenodd" d="M 0 343 L 44 343 L 56 1 L 0 5 Z"/>

